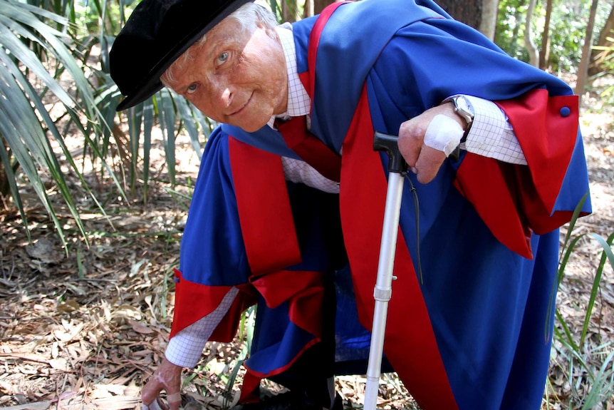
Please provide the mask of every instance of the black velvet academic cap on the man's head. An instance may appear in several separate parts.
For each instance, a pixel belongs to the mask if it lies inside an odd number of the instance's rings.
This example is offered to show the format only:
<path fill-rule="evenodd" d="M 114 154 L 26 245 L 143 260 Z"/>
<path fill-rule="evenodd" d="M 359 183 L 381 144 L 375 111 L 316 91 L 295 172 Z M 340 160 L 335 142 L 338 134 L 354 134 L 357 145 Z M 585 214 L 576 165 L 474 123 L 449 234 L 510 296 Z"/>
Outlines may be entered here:
<path fill-rule="evenodd" d="M 252 0 L 142 0 L 109 55 L 111 78 L 126 98 L 117 110 L 160 91 L 160 76 L 222 19 Z"/>

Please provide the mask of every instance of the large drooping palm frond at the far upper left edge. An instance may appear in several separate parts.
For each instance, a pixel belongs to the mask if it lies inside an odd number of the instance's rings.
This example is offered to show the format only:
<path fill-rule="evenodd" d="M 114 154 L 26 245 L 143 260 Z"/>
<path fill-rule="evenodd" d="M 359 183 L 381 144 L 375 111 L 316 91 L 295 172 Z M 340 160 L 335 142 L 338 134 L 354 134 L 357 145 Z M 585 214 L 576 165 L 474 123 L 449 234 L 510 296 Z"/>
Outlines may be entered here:
<path fill-rule="evenodd" d="M 44 99 L 48 96 L 56 98 L 73 120 L 85 115 L 88 123 L 100 124 L 100 116 L 95 106 L 93 88 L 69 46 L 70 37 L 51 24 L 66 26 L 68 20 L 19 1 L 0 0 L 0 138 L 7 147 L 1 161 L 5 170 L 13 168 L 14 161 L 19 163 L 64 240 L 61 223 L 43 185 L 41 170 L 50 174 L 79 230 L 82 233 L 84 230 L 66 178 L 51 148 L 50 136 L 58 142 L 74 170 L 76 166 L 63 143 L 56 121 L 46 111 Z M 46 61 L 48 66 L 53 65 L 54 69 L 46 67 L 42 61 Z M 61 74 L 71 78 L 80 103 L 58 81 Z M 100 125 L 95 128 L 99 132 Z M 77 174 L 83 182 L 78 171 Z M 9 185 L 25 221 L 26 214 L 15 180 L 9 181 Z M 24 225 L 27 229 L 27 224 Z"/>

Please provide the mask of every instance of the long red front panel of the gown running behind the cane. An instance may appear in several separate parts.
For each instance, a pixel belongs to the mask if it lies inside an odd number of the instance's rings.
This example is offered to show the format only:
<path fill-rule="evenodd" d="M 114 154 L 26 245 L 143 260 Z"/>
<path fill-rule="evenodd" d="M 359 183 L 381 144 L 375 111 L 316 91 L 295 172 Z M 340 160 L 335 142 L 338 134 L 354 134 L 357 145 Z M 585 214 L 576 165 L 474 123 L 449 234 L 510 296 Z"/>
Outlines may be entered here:
<path fill-rule="evenodd" d="M 371 329 L 387 181 L 373 151 L 373 124 L 366 88 L 343 143 L 341 223 L 360 323 Z M 402 232 L 397 239 L 392 299 L 384 351 L 402 381 L 425 409 L 457 409 L 427 307 Z M 395 296 L 397 295 L 397 296 Z M 407 338 L 410 329 L 412 337 Z"/>

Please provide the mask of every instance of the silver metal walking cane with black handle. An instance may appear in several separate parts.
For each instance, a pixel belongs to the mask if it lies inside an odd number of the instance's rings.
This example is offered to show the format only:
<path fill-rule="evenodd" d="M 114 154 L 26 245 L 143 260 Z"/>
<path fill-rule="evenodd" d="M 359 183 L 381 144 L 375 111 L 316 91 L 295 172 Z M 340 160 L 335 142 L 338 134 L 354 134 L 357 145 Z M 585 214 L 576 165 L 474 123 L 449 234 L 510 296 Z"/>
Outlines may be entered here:
<path fill-rule="evenodd" d="M 373 312 L 373 328 L 367 366 L 367 384 L 365 387 L 364 410 L 375 410 L 378 405 L 378 390 L 384 352 L 384 335 L 388 301 L 392 295 L 392 268 L 395 265 L 395 248 L 399 231 L 399 215 L 403 182 L 407 172 L 407 163 L 402 158 L 397 145 L 398 137 L 375 133 L 373 150 L 385 151 L 388 155 L 388 187 L 382 242 L 380 244 L 380 260 L 378 262 L 378 278 L 375 282 L 373 297 L 375 310 Z"/>

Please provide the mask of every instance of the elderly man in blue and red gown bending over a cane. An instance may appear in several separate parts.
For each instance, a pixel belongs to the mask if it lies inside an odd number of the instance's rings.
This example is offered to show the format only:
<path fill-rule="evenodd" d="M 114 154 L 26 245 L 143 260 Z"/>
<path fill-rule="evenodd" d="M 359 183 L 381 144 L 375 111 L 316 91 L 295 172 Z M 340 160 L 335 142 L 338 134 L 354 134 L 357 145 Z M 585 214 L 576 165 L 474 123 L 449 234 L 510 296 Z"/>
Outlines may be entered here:
<path fill-rule="evenodd" d="M 118 110 L 164 84 L 221 123 L 184 231 L 166 359 L 144 404 L 165 390 L 178 409 L 182 367 L 207 340 L 230 341 L 257 303 L 241 401 L 257 400 L 269 378 L 301 404 L 254 408 L 339 405 L 332 376 L 365 370 L 373 321 L 380 131 L 399 135 L 411 171 L 386 369 L 425 410 L 539 408 L 558 227 L 588 192 L 566 84 L 430 0 L 335 3 L 282 26 L 247 0 L 143 0 L 110 58 L 126 96 Z"/>

